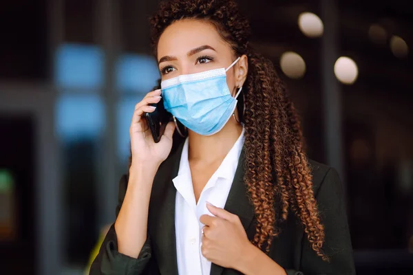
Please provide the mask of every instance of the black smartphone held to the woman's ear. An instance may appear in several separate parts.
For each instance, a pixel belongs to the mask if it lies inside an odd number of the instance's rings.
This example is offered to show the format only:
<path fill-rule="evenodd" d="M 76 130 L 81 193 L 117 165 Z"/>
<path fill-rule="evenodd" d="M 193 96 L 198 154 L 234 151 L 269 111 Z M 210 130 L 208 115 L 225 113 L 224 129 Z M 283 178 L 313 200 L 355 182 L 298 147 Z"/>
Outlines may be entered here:
<path fill-rule="evenodd" d="M 151 130 L 153 141 L 158 143 L 165 131 L 165 126 L 172 120 L 172 115 L 165 109 L 163 98 L 158 103 L 150 105 L 156 107 L 156 109 L 152 113 L 145 113 L 145 118 Z"/>

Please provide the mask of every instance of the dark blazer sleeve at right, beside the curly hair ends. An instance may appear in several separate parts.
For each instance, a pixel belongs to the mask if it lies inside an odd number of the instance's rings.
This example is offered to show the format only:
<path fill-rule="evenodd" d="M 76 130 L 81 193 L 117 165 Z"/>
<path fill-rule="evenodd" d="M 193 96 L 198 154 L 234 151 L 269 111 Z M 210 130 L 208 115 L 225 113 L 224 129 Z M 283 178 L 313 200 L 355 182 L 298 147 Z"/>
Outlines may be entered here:
<path fill-rule="evenodd" d="M 304 234 L 300 270 L 286 270 L 286 273 L 288 275 L 356 274 L 343 186 L 335 168 L 328 169 L 321 181 L 316 200 L 321 223 L 324 224 L 323 251 L 330 257 L 330 262 L 322 261 L 315 254 Z"/>

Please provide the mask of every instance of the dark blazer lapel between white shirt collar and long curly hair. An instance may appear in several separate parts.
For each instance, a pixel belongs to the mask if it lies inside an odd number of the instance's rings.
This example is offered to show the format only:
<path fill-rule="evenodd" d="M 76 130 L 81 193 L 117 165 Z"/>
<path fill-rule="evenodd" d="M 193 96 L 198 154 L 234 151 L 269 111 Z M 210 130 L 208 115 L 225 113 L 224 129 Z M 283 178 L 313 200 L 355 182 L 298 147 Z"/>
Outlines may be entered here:
<path fill-rule="evenodd" d="M 233 184 L 231 186 L 231 190 L 229 190 L 228 199 L 226 199 L 224 209 L 240 217 L 242 226 L 244 227 L 244 230 L 247 231 L 251 225 L 251 221 L 253 221 L 254 208 L 249 202 L 246 186 L 244 184 L 244 150 L 245 149 L 242 148 L 237 170 L 235 171 Z M 250 239 L 252 237 L 253 236 L 248 236 Z M 230 274 L 229 271 L 230 270 L 226 273 Z M 221 275 L 222 272 L 224 272 L 224 267 L 212 263 L 210 275 Z"/>

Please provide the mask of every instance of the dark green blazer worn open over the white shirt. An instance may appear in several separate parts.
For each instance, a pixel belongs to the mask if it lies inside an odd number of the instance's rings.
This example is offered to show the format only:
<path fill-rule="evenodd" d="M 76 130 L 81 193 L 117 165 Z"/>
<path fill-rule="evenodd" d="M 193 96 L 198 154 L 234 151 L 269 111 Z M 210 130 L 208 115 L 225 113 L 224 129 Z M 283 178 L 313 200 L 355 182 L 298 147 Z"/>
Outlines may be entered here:
<path fill-rule="evenodd" d="M 176 188 L 173 186 L 172 179 L 178 175 L 181 152 L 182 145 L 161 164 L 153 180 L 149 203 L 148 239 L 138 259 L 118 252 L 116 232 L 112 225 L 100 247 L 98 256 L 92 263 L 90 274 L 178 274 L 175 239 Z M 253 206 L 246 195 L 242 162 L 244 162 L 244 152 L 241 153 L 224 208 L 240 217 L 248 239 L 251 240 L 255 234 L 255 217 Z M 287 221 L 277 224 L 282 232 L 273 239 L 269 256 L 284 267 L 288 275 L 355 274 L 339 176 L 334 168 L 324 164 L 310 161 L 310 165 L 313 168 L 314 194 L 321 213 L 321 221 L 325 227 L 324 252 L 330 255 L 331 261 L 330 263 L 322 261 L 311 249 L 304 230 L 293 213 L 288 214 Z M 125 197 L 127 182 L 128 175 L 124 175 L 119 184 L 116 216 Z M 277 205 L 277 202 L 275 204 Z M 231 274 L 241 273 L 215 264 L 211 265 L 211 275 Z"/>

